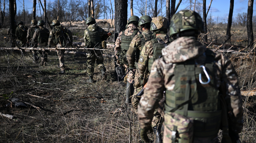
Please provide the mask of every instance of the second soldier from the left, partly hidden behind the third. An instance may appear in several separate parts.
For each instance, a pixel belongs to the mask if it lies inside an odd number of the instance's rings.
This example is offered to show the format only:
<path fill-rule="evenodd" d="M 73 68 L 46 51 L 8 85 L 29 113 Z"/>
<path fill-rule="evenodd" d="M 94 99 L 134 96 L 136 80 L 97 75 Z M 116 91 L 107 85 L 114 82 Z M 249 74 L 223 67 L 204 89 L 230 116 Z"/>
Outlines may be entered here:
<path fill-rule="evenodd" d="M 36 24 L 37 24 L 37 20 L 35 19 L 31 20 L 31 26 L 29 27 L 28 33 L 27 33 L 27 41 L 29 42 L 29 46 L 32 45 L 31 47 L 36 47 L 35 43 L 31 43 L 35 30 L 39 28 L 38 25 Z M 37 62 L 39 60 L 37 50 L 32 50 L 32 54 L 33 54 L 33 62 Z"/>

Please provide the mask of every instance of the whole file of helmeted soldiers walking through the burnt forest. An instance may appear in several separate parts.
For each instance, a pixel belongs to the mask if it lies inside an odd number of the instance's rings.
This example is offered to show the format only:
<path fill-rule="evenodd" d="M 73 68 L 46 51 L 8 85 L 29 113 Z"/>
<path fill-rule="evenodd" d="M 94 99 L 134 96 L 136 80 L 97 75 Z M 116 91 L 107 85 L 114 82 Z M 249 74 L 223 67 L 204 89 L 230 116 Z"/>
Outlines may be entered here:
<path fill-rule="evenodd" d="M 23 45 L 29 43 L 42 49 L 72 45 L 72 32 L 58 20 L 52 21 L 51 31 L 43 27 L 43 20 L 36 23 L 32 20 L 31 27 L 26 28 L 18 22 L 16 36 Z M 106 76 L 104 56 L 95 48 L 102 49 L 102 41 L 112 34 L 98 27 L 93 17 L 88 17 L 86 24 L 85 46 L 91 48 L 87 82 L 93 83 L 95 62 L 102 78 Z M 219 129 L 223 130 L 222 142 L 240 142 L 243 110 L 237 74 L 227 57 L 216 55 L 197 41 L 200 32 L 205 32 L 200 15 L 182 10 L 170 23 L 162 16 L 131 16 L 126 29 L 118 34 L 114 47 L 116 64 L 124 66 L 128 73 L 124 80 L 125 103 L 138 114 L 140 135 L 145 142 L 151 142 L 147 131 L 153 130 L 155 143 L 216 143 Z M 60 73 L 65 73 L 64 51 L 57 52 Z M 47 63 L 47 53 L 41 52 L 42 65 Z M 35 62 L 39 60 L 36 51 L 33 57 Z"/>

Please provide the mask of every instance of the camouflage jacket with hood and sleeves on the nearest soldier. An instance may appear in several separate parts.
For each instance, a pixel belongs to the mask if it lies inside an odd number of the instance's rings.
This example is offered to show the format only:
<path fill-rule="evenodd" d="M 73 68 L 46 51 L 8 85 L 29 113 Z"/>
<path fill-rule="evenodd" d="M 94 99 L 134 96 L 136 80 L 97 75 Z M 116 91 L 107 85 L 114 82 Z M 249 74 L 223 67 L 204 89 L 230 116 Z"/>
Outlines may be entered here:
<path fill-rule="evenodd" d="M 138 118 L 142 127 L 150 126 L 154 109 L 163 97 L 164 89 L 174 90 L 175 63 L 195 59 L 200 66 L 200 63 L 204 63 L 206 59 L 205 51 L 205 46 L 190 37 L 177 38 L 162 50 L 163 58 L 154 61 L 147 87 L 138 107 Z M 231 61 L 223 54 L 215 55 L 214 60 L 216 61 L 214 65 L 216 88 L 224 82 L 229 125 L 232 131 L 239 133 L 243 127 L 243 109 L 237 73 Z"/>

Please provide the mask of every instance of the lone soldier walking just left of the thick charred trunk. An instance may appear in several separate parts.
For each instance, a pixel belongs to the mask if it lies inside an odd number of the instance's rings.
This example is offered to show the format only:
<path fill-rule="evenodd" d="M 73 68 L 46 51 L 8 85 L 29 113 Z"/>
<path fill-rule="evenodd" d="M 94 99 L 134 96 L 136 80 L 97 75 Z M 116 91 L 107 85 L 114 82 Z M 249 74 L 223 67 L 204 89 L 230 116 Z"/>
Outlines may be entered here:
<path fill-rule="evenodd" d="M 85 45 L 87 48 L 98 48 L 103 49 L 102 41 L 107 40 L 111 33 L 103 30 L 99 26 L 96 25 L 96 20 L 93 17 L 87 17 L 86 23 L 88 28 L 85 29 L 84 32 L 84 39 Z M 106 68 L 103 64 L 104 56 L 102 54 L 102 50 L 88 50 L 87 54 L 87 73 L 89 75 L 89 79 L 87 80 L 88 83 L 93 83 L 93 72 L 94 72 L 94 64 L 97 63 L 99 70 L 102 73 L 103 79 L 106 77 Z"/>

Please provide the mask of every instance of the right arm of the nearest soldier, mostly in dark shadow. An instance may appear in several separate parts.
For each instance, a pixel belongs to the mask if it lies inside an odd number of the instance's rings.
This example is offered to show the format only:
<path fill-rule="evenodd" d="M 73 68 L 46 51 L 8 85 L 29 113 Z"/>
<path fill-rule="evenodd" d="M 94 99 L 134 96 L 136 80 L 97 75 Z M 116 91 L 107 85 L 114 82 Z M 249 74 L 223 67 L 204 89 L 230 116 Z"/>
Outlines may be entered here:
<path fill-rule="evenodd" d="M 231 131 L 239 134 L 243 128 L 243 108 L 238 76 L 231 61 L 226 56 L 218 54 L 216 59 L 218 59 L 218 67 L 221 67 L 221 81 L 224 82 L 224 88 L 226 89 L 225 101 L 227 103 L 229 126 Z M 220 73 L 221 70 L 219 70 Z"/>

